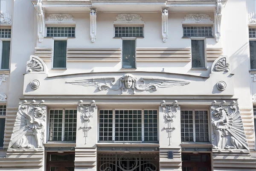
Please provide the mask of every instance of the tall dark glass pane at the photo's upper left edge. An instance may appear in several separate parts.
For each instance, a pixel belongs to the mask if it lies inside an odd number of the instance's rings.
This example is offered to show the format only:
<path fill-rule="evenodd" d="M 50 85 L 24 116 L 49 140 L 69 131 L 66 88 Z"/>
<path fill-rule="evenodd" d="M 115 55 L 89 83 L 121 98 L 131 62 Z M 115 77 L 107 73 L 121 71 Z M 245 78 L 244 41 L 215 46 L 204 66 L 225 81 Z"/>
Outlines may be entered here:
<path fill-rule="evenodd" d="M 9 69 L 11 41 L 3 41 L 1 69 Z"/>

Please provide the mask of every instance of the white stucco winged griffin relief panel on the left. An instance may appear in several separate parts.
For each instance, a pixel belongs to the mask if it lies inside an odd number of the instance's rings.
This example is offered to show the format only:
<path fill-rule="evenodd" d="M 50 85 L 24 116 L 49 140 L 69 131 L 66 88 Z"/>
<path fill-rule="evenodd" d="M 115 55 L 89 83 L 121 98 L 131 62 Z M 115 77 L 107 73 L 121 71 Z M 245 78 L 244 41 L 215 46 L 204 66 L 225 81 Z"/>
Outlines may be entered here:
<path fill-rule="evenodd" d="M 46 106 L 19 106 L 10 140 L 10 148 L 43 148 Z"/>

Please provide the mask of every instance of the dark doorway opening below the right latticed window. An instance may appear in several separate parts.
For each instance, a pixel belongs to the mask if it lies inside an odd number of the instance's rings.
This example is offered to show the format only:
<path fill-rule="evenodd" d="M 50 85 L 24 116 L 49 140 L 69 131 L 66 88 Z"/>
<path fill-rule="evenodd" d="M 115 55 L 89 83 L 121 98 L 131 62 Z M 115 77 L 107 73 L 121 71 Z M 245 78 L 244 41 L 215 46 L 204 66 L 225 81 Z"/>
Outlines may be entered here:
<path fill-rule="evenodd" d="M 211 171 L 209 153 L 184 153 L 181 155 L 182 171 Z"/>

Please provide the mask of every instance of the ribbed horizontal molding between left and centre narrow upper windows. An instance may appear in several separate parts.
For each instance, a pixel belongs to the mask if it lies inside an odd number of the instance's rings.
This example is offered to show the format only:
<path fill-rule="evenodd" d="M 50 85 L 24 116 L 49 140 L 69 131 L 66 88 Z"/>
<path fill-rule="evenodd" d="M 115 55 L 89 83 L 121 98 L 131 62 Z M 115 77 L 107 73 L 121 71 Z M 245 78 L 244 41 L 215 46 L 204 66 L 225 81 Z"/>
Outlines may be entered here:
<path fill-rule="evenodd" d="M 121 48 L 67 48 L 68 61 L 121 61 Z"/>

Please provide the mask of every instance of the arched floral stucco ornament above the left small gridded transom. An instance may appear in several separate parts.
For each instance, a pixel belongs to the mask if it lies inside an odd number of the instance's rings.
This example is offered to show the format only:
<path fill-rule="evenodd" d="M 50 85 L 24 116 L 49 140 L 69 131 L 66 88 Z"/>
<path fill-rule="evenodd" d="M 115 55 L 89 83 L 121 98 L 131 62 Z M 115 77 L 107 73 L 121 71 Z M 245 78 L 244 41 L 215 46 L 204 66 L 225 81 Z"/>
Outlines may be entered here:
<path fill-rule="evenodd" d="M 76 23 L 71 14 L 50 14 L 45 23 Z"/>

